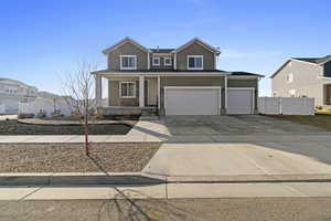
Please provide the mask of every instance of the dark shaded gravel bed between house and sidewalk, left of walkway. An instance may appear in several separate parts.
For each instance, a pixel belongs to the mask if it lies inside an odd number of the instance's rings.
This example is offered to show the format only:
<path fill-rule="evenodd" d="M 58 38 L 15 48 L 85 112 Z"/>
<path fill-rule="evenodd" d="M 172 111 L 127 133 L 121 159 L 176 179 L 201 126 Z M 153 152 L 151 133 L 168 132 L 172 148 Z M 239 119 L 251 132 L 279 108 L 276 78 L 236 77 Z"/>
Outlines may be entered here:
<path fill-rule="evenodd" d="M 89 135 L 126 135 L 132 128 L 128 124 L 89 125 Z M 82 125 L 38 125 L 18 120 L 0 122 L 0 135 L 83 135 Z"/>

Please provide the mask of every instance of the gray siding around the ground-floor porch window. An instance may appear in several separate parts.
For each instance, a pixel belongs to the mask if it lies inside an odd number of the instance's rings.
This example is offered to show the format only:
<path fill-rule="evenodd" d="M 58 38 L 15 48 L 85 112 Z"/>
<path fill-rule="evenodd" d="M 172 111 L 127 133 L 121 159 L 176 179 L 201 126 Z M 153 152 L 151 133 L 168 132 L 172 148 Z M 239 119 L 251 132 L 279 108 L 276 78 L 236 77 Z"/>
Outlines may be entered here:
<path fill-rule="evenodd" d="M 120 98 L 119 97 L 119 82 L 108 81 L 108 98 L 109 106 L 139 106 L 139 81 L 136 81 L 136 97 Z"/>

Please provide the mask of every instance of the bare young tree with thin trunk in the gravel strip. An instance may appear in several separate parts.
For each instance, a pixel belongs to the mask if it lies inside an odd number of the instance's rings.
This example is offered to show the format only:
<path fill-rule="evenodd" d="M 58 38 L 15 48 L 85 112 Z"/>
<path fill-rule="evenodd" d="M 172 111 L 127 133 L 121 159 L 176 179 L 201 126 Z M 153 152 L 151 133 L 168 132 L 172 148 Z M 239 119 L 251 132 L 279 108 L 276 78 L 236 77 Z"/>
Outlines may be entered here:
<path fill-rule="evenodd" d="M 79 116 L 84 135 L 85 152 L 89 155 L 88 124 L 96 107 L 94 99 L 95 77 L 90 74 L 96 66 L 86 62 L 79 63 L 77 71 L 68 73 L 64 77 L 64 98 L 74 115 Z"/>

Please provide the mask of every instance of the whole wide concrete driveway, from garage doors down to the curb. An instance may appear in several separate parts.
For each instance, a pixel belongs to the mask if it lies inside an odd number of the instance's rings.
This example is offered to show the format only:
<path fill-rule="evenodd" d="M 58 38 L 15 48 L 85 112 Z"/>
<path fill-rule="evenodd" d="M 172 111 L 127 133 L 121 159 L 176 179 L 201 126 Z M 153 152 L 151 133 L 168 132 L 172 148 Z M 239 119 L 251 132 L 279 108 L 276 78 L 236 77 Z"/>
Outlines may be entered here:
<path fill-rule="evenodd" d="M 143 169 L 169 177 L 331 178 L 331 134 L 265 116 L 173 116 Z M 213 178 L 211 178 L 213 179 Z"/>

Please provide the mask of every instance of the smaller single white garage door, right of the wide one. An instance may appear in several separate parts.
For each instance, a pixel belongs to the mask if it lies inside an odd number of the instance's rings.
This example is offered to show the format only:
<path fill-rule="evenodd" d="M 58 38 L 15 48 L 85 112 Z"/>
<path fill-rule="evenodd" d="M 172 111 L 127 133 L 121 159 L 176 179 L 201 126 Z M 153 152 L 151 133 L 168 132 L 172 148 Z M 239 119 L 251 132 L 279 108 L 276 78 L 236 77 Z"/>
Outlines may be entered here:
<path fill-rule="evenodd" d="M 227 114 L 254 114 L 253 88 L 227 88 Z"/>

